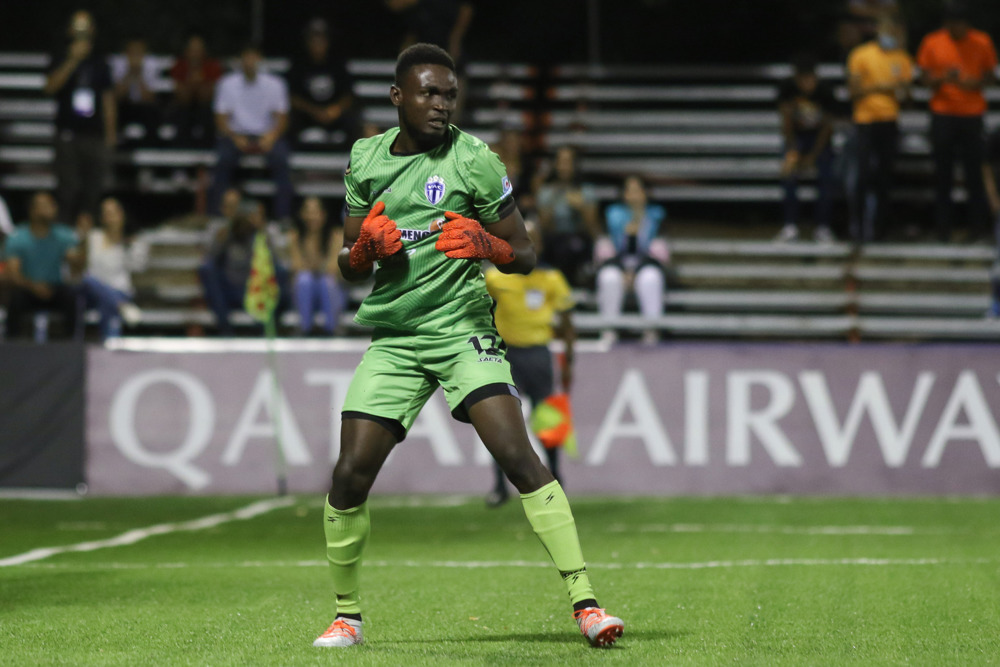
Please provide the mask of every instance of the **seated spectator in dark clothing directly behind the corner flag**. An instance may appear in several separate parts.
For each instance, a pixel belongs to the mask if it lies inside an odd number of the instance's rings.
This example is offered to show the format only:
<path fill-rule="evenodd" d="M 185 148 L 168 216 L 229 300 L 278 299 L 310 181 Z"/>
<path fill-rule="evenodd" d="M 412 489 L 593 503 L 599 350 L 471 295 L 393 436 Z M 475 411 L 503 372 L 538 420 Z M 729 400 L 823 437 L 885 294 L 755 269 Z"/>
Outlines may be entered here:
<path fill-rule="evenodd" d="M 205 261 L 198 268 L 198 278 L 205 293 L 205 301 L 215 315 L 220 335 L 233 334 L 229 314 L 234 308 L 243 309 L 247 280 L 250 278 L 253 262 L 254 238 L 259 231 L 267 234 L 267 242 L 274 257 L 274 275 L 281 290 L 282 298 L 274 313 L 275 317 L 283 309 L 287 294 L 288 272 L 275 254 L 278 244 L 275 243 L 274 235 L 267 227 L 264 205 L 255 201 L 245 202 L 232 225 L 219 230 Z"/>

